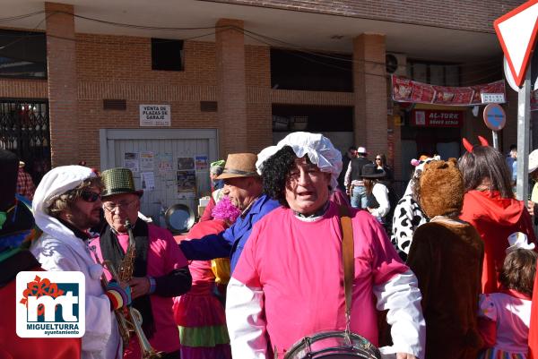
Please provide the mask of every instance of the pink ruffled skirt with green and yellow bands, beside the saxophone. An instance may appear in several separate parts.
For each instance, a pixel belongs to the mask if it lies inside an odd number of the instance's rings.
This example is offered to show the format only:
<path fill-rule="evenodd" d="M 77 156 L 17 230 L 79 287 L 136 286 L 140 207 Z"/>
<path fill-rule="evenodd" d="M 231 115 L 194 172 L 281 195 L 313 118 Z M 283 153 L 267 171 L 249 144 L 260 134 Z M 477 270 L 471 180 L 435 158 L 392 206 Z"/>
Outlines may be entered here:
<path fill-rule="evenodd" d="M 174 298 L 181 359 L 231 359 L 230 337 L 214 282 L 196 283 L 186 295 Z"/>

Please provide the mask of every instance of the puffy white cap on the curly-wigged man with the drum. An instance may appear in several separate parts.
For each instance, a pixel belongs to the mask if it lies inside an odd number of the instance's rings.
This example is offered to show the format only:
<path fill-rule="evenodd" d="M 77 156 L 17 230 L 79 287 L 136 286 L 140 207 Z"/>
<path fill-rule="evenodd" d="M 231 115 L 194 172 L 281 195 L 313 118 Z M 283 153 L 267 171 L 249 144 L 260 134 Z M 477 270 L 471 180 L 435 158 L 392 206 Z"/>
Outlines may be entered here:
<path fill-rule="evenodd" d="M 331 174 L 331 188 L 336 190 L 338 175 L 342 171 L 342 154 L 334 148 L 333 143 L 321 133 L 293 132 L 284 137 L 276 146 L 269 146 L 258 153 L 256 169 L 259 175 L 264 170 L 264 162 L 282 147 L 290 146 L 295 156 L 302 158 L 308 155 L 310 162 L 320 171 Z"/>

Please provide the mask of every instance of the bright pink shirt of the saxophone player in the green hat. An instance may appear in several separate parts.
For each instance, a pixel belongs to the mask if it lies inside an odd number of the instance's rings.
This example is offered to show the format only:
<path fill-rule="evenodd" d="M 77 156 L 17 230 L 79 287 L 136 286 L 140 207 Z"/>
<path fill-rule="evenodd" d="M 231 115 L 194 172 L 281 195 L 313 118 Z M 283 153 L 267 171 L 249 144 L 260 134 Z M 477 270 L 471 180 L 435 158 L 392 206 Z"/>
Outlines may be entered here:
<path fill-rule="evenodd" d="M 174 237 L 167 229 L 156 227 L 148 224 L 148 259 L 147 259 L 147 275 L 153 278 L 158 278 L 169 274 L 174 269 L 180 269 L 187 266 L 187 259 L 179 250 L 178 244 Z M 129 236 L 126 234 L 118 234 L 117 239 L 119 244 L 126 251 L 129 243 Z M 100 252 L 99 238 L 91 241 L 90 245 L 95 245 L 97 255 L 100 261 L 103 257 Z M 105 270 L 107 278 L 110 279 L 108 270 Z M 157 351 L 171 353 L 179 350 L 179 332 L 178 326 L 174 321 L 174 313 L 172 311 L 173 298 L 163 297 L 159 295 L 151 295 L 153 321 L 155 323 L 155 333 L 150 339 L 150 343 Z M 129 346 L 126 349 L 124 359 L 139 358 L 140 347 L 138 343 L 131 339 Z"/>

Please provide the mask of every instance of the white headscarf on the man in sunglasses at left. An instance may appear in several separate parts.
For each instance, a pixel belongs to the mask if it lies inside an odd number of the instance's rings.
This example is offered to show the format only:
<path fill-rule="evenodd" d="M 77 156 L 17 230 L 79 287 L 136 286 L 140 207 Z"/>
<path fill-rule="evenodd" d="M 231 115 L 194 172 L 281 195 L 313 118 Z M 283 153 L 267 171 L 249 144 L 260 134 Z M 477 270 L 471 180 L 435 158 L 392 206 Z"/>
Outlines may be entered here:
<path fill-rule="evenodd" d="M 57 195 L 73 190 L 88 178 L 97 176 L 89 167 L 61 166 L 48 171 L 36 188 L 31 208 L 36 225 L 45 233 L 65 232 L 65 226 L 48 214 L 48 207 Z"/>

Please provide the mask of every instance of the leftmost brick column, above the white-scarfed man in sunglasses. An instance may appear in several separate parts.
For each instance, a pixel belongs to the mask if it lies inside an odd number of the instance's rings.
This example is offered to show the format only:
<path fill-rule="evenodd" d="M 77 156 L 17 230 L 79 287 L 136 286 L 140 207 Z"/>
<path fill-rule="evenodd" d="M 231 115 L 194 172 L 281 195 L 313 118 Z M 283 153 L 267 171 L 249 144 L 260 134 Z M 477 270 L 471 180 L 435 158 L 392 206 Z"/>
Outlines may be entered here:
<path fill-rule="evenodd" d="M 79 162 L 74 7 L 45 3 L 52 167 Z"/>

